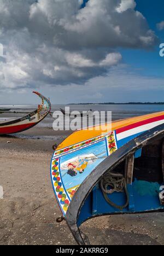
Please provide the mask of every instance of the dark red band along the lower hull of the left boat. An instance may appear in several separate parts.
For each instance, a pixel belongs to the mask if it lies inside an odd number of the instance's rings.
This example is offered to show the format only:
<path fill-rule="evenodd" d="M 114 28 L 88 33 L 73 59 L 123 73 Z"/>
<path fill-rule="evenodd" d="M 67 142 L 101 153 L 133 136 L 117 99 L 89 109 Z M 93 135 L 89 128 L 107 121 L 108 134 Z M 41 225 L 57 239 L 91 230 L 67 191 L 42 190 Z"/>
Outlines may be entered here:
<path fill-rule="evenodd" d="M 24 124 L 24 125 L 0 127 L 0 135 L 21 132 L 21 131 L 24 131 L 26 129 L 30 129 L 30 127 L 32 127 L 36 124 L 37 123 L 30 123 L 30 124 Z"/>

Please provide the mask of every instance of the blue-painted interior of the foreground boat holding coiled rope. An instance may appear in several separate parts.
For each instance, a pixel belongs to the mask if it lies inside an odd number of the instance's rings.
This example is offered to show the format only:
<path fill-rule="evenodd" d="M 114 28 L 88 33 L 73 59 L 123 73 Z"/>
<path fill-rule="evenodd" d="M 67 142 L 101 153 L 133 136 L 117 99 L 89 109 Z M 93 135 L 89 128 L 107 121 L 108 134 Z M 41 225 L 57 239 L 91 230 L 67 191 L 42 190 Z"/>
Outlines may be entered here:
<path fill-rule="evenodd" d="M 78 216 L 78 226 L 89 218 L 106 214 L 163 211 L 164 202 L 160 201 L 159 197 L 160 188 L 164 184 L 163 156 L 164 140 L 160 139 L 122 161 L 113 170 L 113 173 L 120 174 L 120 177 L 112 176 L 110 179 L 109 171 L 103 178 L 108 176 L 107 194 L 102 190 L 101 181 L 86 197 Z M 124 188 L 119 184 L 122 178 L 125 179 Z M 112 191 L 114 184 L 118 191 Z"/>

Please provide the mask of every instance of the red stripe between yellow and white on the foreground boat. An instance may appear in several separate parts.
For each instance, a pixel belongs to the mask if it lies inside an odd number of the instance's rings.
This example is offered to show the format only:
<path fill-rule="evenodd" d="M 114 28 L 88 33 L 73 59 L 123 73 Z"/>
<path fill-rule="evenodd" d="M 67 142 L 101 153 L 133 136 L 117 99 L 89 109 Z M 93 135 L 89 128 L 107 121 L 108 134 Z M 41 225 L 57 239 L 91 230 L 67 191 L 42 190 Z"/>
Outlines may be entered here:
<path fill-rule="evenodd" d="M 140 122 L 135 123 L 135 124 L 131 124 L 131 125 L 127 125 L 125 127 L 121 127 L 121 128 L 116 130 L 116 133 L 119 134 L 121 132 L 128 131 L 128 130 L 131 130 L 133 128 L 136 128 L 138 126 L 147 125 L 147 124 L 154 123 L 156 121 L 160 121 L 160 120 L 163 120 L 163 119 L 164 119 L 164 115 L 160 115 L 159 117 L 155 117 L 155 118 L 146 119 L 146 120 L 140 121 Z"/>

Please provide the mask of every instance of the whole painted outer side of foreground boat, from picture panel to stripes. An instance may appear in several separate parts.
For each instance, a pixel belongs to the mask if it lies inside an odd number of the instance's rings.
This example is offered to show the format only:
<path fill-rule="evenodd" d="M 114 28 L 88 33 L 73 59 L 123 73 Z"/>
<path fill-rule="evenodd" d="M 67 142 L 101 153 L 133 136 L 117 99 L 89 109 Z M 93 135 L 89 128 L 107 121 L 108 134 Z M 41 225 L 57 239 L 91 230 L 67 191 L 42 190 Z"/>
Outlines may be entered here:
<path fill-rule="evenodd" d="M 153 113 L 116 121 L 112 123 L 113 131 L 104 135 L 81 130 L 65 139 L 51 161 L 52 186 L 63 216 L 81 183 L 96 166 L 133 138 L 163 123 L 164 112 Z M 83 141 L 79 142 L 79 138 Z"/>

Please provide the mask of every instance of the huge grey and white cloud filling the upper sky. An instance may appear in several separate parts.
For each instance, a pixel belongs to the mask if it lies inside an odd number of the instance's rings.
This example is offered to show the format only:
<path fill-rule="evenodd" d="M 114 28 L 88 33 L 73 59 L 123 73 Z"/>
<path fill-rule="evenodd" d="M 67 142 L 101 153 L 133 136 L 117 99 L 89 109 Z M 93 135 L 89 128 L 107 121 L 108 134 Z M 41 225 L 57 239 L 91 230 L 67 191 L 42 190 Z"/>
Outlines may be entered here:
<path fill-rule="evenodd" d="M 134 0 L 0 0 L 0 90 L 84 84 L 157 38 Z"/>

